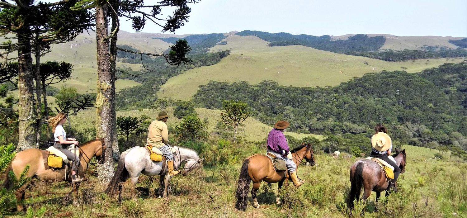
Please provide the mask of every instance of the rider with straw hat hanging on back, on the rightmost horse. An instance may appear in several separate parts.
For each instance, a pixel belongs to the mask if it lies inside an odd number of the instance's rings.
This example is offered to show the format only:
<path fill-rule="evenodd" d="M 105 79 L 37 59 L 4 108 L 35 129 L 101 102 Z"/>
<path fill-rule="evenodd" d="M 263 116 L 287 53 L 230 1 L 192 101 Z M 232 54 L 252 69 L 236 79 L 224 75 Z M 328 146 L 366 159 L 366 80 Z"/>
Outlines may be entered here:
<path fill-rule="evenodd" d="M 387 133 L 388 131 L 386 130 L 386 127 L 384 127 L 382 124 L 376 125 L 375 134 L 371 137 L 371 146 L 373 147 L 373 150 L 371 151 L 370 157 L 382 159 L 394 167 L 394 179 L 392 179 L 391 183 L 389 183 L 388 189 L 394 189 L 394 191 L 397 191 L 396 180 L 401 173 L 401 169 L 396 164 L 396 162 L 389 159 L 388 157 L 392 152 L 392 141 L 391 137 L 389 137 Z"/>

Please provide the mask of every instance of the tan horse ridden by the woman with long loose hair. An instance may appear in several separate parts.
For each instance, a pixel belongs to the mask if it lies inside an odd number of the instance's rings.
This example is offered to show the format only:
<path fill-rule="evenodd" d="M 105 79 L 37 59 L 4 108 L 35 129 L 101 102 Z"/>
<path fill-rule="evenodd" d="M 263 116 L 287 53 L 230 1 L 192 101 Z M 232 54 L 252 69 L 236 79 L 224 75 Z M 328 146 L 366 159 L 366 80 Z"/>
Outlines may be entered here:
<path fill-rule="evenodd" d="M 92 140 L 80 145 L 80 165 L 78 167 L 78 174 L 84 176 L 88 164 L 91 161 L 93 156 L 99 156 L 99 163 L 104 162 L 103 151 L 106 149 L 104 142 L 101 140 Z M 7 170 L 7 173 L 10 170 L 13 170 L 14 175 L 19 177 L 22 171 L 29 165 L 28 173 L 26 178 L 36 178 L 38 180 L 50 181 L 50 182 L 59 182 L 59 181 L 68 181 L 71 182 L 71 170 L 68 173 L 68 176 L 65 177 L 65 169 L 45 169 L 44 167 L 44 157 L 42 156 L 42 151 L 36 148 L 29 148 L 24 151 L 19 152 L 14 157 L 11 166 Z M 24 199 L 24 193 L 30 184 L 26 184 L 19 188 L 16 191 L 16 199 L 21 202 Z M 2 188 L 11 188 L 13 186 L 12 181 L 9 180 L 6 176 L 6 180 L 2 184 Z M 74 203 L 76 204 L 76 195 L 78 194 L 79 183 L 73 183 L 73 194 L 74 194 Z M 23 205 L 19 203 L 17 205 L 17 210 L 22 211 L 24 209 Z"/>

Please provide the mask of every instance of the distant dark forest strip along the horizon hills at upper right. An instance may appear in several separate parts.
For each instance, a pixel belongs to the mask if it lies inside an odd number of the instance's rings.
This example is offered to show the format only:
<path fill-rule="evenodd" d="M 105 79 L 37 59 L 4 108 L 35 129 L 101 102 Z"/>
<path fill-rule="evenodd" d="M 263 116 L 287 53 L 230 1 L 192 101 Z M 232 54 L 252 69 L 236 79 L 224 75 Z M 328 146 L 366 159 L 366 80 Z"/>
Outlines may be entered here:
<path fill-rule="evenodd" d="M 268 41 L 269 46 L 284 46 L 284 45 L 303 45 L 315 49 L 332 51 L 340 54 L 364 56 L 380 59 L 383 61 L 407 61 L 427 58 L 452 58 L 466 57 L 467 51 L 463 46 L 466 46 L 466 41 L 450 40 L 449 42 L 461 47 L 459 49 L 435 49 L 434 47 L 424 47 L 424 50 L 409 50 L 403 51 L 379 49 L 386 41 L 385 36 L 368 37 L 368 35 L 357 34 L 350 36 L 346 40 L 333 40 L 330 35 L 314 36 L 314 35 L 292 35 L 290 33 L 268 33 L 261 31 L 245 30 L 236 35 L 247 36 L 255 35 L 262 40 Z"/>

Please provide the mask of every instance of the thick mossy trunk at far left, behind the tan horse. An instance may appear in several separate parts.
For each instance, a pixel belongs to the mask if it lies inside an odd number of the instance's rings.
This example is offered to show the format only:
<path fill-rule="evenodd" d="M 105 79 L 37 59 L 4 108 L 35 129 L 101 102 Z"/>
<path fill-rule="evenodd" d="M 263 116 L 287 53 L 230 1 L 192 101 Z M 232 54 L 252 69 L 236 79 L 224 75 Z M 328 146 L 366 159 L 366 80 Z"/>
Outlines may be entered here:
<path fill-rule="evenodd" d="M 28 2 L 23 2 L 23 4 Z M 20 48 L 18 49 L 18 91 L 19 94 L 19 141 L 16 150 L 35 148 L 35 109 L 34 80 L 32 75 L 31 41 L 28 38 L 31 31 L 24 24 L 16 32 Z"/>

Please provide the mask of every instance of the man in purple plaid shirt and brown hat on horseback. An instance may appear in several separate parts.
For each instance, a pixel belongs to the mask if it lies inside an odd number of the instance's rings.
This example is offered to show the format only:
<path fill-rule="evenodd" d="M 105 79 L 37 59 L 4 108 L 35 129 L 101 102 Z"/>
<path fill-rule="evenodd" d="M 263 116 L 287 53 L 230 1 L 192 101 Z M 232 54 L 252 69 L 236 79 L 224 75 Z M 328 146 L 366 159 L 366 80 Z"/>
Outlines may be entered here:
<path fill-rule="evenodd" d="M 285 120 L 279 120 L 276 122 L 276 124 L 274 124 L 274 128 L 268 134 L 267 152 L 272 153 L 276 155 L 276 158 L 285 161 L 285 165 L 289 170 L 290 179 L 292 179 L 292 182 L 295 185 L 295 187 L 299 187 L 305 181 L 301 181 L 298 179 L 296 170 L 297 165 L 295 165 L 295 163 L 292 160 L 287 158 L 287 155 L 289 155 L 290 152 L 290 148 L 283 134 L 285 128 L 287 128 L 289 125 L 289 122 Z"/>

